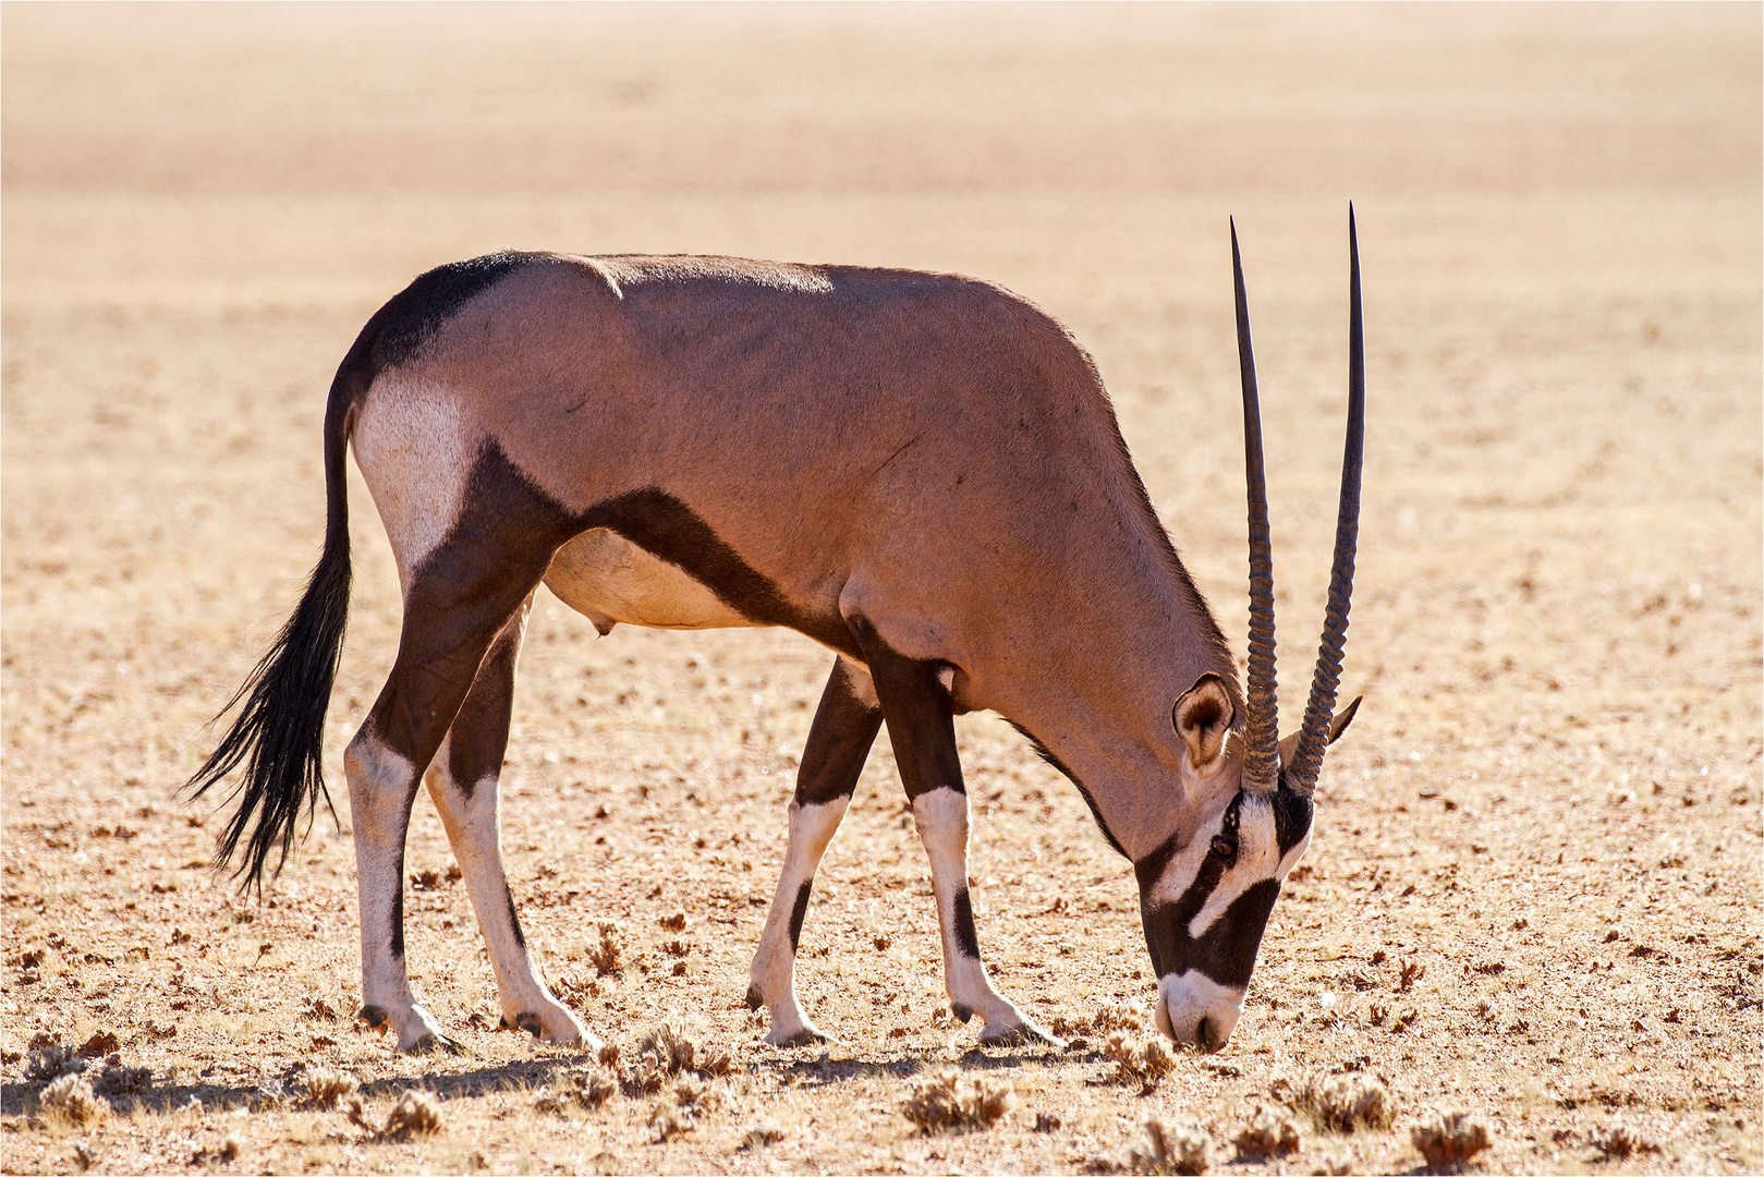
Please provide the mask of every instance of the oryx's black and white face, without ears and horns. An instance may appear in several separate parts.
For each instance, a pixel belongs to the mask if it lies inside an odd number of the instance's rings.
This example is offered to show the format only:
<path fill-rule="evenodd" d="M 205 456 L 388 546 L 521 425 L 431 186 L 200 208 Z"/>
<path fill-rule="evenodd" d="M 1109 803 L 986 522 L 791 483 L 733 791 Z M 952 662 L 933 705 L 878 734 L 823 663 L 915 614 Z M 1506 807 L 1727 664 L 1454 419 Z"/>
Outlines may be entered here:
<path fill-rule="evenodd" d="M 1134 863 L 1157 971 L 1157 1027 L 1219 1050 L 1244 1009 L 1281 882 L 1311 845 L 1311 799 L 1238 792 L 1185 843 Z"/>

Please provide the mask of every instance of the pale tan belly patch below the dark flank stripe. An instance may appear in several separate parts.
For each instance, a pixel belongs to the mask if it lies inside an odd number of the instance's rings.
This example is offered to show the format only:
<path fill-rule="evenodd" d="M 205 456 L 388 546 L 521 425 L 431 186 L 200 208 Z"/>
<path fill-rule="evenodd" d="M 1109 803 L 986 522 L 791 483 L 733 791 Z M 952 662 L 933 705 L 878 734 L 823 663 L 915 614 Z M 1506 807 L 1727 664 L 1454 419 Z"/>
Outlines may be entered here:
<path fill-rule="evenodd" d="M 718 630 L 757 625 L 677 565 L 594 528 L 552 558 L 545 588 L 605 633 L 616 621 L 653 630 Z"/>

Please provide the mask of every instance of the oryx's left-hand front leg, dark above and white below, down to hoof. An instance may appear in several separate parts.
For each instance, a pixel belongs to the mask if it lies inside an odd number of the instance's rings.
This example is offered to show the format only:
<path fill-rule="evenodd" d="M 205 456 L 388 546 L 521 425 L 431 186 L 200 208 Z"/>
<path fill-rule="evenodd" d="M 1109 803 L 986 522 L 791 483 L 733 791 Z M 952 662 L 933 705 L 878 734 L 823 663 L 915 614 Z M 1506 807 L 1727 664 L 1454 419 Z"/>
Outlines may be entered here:
<path fill-rule="evenodd" d="M 845 817 L 880 727 L 882 708 L 870 674 L 848 658 L 838 658 L 803 746 L 803 766 L 790 799 L 790 840 L 748 985 L 748 1008 L 766 1006 L 771 1020 L 766 1041 L 774 1046 L 827 1041 L 796 1001 L 796 948 L 820 856 Z"/>

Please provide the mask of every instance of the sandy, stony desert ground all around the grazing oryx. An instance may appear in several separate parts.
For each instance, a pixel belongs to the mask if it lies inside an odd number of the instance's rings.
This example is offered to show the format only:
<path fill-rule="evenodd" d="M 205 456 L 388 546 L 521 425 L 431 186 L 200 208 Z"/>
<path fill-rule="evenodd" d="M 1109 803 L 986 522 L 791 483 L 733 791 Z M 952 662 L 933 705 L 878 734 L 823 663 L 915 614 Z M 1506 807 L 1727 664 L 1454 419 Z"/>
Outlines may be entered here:
<path fill-rule="evenodd" d="M 0 34 L 5 1172 L 1175 1165 L 1147 1156 L 1147 1121 L 1203 1133 L 1217 1172 L 1418 1172 L 1411 1129 L 1452 1110 L 1487 1129 L 1487 1172 L 1764 1165 L 1757 5 L 9 4 Z M 1365 706 L 1226 1052 L 1178 1055 L 1150 1092 L 1117 1082 L 1106 1016 L 1152 993 L 1131 870 L 986 715 L 958 725 L 981 944 L 1080 1041 L 979 1050 L 949 1020 L 884 736 L 797 972 L 840 1043 L 764 1046 L 746 969 L 829 663 L 785 632 L 596 639 L 542 593 L 503 776 L 547 976 L 626 1064 L 672 1023 L 727 1075 L 559 1099 L 612 1073 L 492 1032 L 427 799 L 409 960 L 462 1057 L 393 1057 L 351 1018 L 346 808 L 261 903 L 206 870 L 220 822 L 178 785 L 318 554 L 330 374 L 415 274 L 497 247 L 1020 291 L 1095 355 L 1242 649 L 1235 215 L 1295 716 L 1349 199 Z M 399 626 L 358 478 L 351 496 L 339 805 Z M 602 923 L 623 972 L 596 974 Z M 44 1105 L 51 1043 L 93 1052 L 99 1119 Z M 903 1101 L 946 1064 L 1009 1083 L 1009 1113 L 921 1133 Z M 319 1069 L 360 1082 L 355 1121 L 310 1099 Z M 1388 1126 L 1305 1115 L 1307 1087 L 1362 1080 Z M 409 1091 L 439 1131 L 370 1131 Z M 663 1131 L 681 1101 L 693 1121 Z M 1259 1108 L 1297 1122 L 1297 1152 L 1238 1152 Z"/>

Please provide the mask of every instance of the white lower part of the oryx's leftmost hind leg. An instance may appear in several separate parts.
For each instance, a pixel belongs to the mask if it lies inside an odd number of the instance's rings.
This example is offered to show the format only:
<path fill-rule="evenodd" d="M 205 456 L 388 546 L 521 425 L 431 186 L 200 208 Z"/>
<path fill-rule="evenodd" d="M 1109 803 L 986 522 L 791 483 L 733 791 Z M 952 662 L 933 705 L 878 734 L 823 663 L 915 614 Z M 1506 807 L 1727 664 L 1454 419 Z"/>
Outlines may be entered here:
<path fill-rule="evenodd" d="M 441 1027 L 411 995 L 402 928 L 397 926 L 402 923 L 404 835 L 409 824 L 406 798 L 416 783 L 416 769 L 363 725 L 344 753 L 344 775 L 349 778 L 362 916 L 362 1013 L 376 1025 L 390 1022 L 399 1050 L 446 1045 Z"/>

